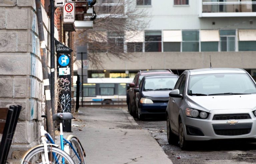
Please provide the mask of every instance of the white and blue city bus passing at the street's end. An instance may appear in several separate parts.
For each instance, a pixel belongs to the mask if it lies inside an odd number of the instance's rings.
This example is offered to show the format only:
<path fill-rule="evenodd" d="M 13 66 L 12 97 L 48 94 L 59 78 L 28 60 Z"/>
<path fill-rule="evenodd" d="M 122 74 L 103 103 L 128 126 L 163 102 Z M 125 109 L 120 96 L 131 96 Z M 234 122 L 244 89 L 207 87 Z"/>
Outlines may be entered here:
<path fill-rule="evenodd" d="M 76 76 L 74 78 L 74 100 L 76 100 Z M 122 103 L 124 105 L 126 104 L 126 86 L 132 81 L 133 78 L 88 78 L 87 83 L 83 84 L 83 104 Z M 79 99 L 81 104 L 82 97 Z"/>

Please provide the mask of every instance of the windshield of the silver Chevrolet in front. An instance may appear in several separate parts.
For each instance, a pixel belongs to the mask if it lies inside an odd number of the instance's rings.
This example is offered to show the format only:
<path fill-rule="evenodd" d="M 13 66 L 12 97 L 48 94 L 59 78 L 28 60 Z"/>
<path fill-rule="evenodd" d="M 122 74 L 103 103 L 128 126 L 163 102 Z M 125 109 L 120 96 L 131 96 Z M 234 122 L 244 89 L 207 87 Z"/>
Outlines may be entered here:
<path fill-rule="evenodd" d="M 256 94 L 256 87 L 245 73 L 191 75 L 188 94 L 195 96 Z"/>

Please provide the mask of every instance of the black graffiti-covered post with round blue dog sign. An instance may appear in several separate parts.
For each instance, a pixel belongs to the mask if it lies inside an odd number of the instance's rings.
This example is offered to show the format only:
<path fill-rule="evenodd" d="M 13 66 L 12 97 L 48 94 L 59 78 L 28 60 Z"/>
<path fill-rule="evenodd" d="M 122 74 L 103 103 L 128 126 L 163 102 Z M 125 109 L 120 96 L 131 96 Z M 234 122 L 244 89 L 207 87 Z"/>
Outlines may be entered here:
<path fill-rule="evenodd" d="M 72 49 L 55 39 L 57 53 L 58 112 L 71 113 L 71 52 Z M 71 132 L 71 120 L 65 120 L 63 131 Z"/>

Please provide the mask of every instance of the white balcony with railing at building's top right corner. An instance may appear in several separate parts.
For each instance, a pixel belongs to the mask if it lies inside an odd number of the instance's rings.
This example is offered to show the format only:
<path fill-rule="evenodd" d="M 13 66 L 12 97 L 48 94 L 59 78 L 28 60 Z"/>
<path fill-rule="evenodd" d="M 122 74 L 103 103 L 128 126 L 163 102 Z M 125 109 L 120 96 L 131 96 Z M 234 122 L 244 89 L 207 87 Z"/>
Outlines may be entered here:
<path fill-rule="evenodd" d="M 253 17 L 256 0 L 202 0 L 201 17 Z"/>

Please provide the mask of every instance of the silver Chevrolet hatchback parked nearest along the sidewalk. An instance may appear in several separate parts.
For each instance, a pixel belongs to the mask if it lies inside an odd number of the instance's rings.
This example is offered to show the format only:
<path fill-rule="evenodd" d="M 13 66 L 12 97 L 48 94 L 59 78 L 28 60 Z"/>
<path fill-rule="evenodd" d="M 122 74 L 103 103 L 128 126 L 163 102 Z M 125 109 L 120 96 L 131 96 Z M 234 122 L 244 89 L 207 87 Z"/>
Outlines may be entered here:
<path fill-rule="evenodd" d="M 170 144 L 186 149 L 195 140 L 256 139 L 256 83 L 243 69 L 186 70 L 169 96 Z"/>

